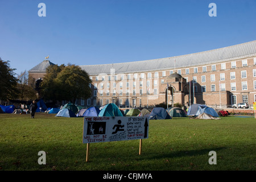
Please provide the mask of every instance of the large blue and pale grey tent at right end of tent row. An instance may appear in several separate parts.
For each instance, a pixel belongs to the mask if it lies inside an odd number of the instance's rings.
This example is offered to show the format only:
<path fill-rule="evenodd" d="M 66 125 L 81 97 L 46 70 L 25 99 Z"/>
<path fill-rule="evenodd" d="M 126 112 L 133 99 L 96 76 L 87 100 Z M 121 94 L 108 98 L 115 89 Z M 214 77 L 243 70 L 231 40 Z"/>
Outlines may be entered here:
<path fill-rule="evenodd" d="M 213 117 L 219 117 L 218 113 L 212 108 L 206 105 L 193 104 L 188 108 L 187 115 L 195 115 L 198 116 L 202 113 L 207 113 L 212 115 Z"/>

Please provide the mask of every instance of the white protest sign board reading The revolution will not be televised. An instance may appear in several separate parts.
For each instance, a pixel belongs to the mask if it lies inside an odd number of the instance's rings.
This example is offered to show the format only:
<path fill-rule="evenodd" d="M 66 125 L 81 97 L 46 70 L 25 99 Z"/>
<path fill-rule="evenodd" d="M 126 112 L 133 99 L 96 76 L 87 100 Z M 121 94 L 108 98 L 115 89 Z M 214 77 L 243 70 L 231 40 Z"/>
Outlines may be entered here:
<path fill-rule="evenodd" d="M 148 138 L 148 117 L 84 117 L 82 143 Z"/>

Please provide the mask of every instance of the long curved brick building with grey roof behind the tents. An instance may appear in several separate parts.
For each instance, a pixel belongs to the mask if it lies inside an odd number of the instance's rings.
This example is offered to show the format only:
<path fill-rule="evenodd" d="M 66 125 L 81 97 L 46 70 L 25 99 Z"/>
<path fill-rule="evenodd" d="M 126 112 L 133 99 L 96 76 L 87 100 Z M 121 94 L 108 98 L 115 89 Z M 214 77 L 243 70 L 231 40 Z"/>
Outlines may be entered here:
<path fill-rule="evenodd" d="M 42 63 L 45 67 L 51 64 L 47 60 Z M 46 68 L 40 64 L 28 71 L 31 76 L 43 75 Z M 80 65 L 92 80 L 92 97 L 78 98 L 77 104 L 115 103 L 119 107 L 161 103 L 222 107 L 240 102 L 253 104 L 256 101 L 255 65 L 256 40 L 163 59 Z"/>

